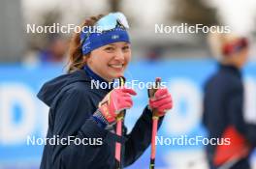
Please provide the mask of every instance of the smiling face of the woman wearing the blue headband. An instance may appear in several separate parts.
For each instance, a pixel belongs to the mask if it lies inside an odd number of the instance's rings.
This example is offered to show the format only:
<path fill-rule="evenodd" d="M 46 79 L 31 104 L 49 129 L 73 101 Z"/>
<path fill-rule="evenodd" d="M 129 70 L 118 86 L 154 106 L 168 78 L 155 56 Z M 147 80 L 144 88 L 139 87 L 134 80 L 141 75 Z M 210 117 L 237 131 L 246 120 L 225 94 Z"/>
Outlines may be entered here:
<path fill-rule="evenodd" d="M 107 81 L 122 76 L 131 60 L 131 45 L 128 42 L 113 42 L 91 51 L 88 67 Z"/>

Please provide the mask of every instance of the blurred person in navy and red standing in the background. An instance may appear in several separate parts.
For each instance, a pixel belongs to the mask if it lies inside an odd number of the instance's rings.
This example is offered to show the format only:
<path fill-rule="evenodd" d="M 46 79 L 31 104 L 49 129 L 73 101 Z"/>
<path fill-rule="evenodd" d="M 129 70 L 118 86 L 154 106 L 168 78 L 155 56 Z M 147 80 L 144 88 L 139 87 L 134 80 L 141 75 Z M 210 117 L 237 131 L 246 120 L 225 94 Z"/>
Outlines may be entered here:
<path fill-rule="evenodd" d="M 241 79 L 241 69 L 248 57 L 248 40 L 233 34 L 210 34 L 208 42 L 219 66 L 205 86 L 203 123 L 208 138 L 230 139 L 208 145 L 208 163 L 211 169 L 249 169 L 248 156 L 255 140 L 246 134 Z"/>

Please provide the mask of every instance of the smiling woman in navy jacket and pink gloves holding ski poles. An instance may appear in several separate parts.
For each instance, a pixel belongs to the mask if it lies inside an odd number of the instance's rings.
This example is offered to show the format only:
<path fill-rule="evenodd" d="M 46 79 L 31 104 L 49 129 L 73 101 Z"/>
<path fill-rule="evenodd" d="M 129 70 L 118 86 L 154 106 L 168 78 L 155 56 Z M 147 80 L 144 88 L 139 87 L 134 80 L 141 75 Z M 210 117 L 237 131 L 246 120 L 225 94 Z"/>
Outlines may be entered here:
<path fill-rule="evenodd" d="M 87 32 L 88 26 L 100 26 L 102 32 Z M 159 88 L 148 99 L 149 105 L 132 132 L 127 134 L 126 127 L 121 129 L 123 110 L 133 106 L 132 96 L 136 95 L 133 89 L 112 86 L 131 60 L 128 21 L 121 13 L 98 15 L 86 19 L 81 28 L 71 42 L 68 73 L 47 82 L 38 98 L 50 107 L 48 139 L 54 135 L 72 136 L 74 140 L 100 138 L 103 144 L 47 144 L 41 169 L 113 169 L 131 165 L 150 144 L 152 118 L 160 118 L 160 127 L 163 116 L 173 106 L 168 90 Z M 91 81 L 108 87 L 95 89 Z M 154 116 L 152 109 L 157 110 Z"/>

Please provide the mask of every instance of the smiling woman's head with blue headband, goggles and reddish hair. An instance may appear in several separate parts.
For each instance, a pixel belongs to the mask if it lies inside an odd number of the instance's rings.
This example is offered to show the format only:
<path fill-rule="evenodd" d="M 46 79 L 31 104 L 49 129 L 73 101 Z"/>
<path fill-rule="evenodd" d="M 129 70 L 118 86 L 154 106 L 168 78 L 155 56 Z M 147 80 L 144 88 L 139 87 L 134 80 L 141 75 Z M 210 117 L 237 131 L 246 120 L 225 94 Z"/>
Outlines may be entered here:
<path fill-rule="evenodd" d="M 112 81 L 123 75 L 131 60 L 130 40 L 126 31 L 129 25 L 121 13 L 108 14 L 107 19 L 102 17 L 100 14 L 86 19 L 81 25 L 81 32 L 74 35 L 68 71 L 80 70 L 87 65 L 107 81 Z M 101 33 L 87 33 L 89 26 L 100 27 Z"/>

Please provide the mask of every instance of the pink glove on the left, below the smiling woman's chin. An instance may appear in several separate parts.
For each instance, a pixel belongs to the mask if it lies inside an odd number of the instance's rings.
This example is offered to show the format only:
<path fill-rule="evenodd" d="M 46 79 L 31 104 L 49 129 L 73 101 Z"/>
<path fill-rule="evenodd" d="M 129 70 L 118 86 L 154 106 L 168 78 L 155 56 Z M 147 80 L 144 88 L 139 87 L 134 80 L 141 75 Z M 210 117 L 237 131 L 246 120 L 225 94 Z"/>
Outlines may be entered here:
<path fill-rule="evenodd" d="M 113 89 L 100 103 L 99 110 L 109 124 L 115 122 L 116 116 L 124 109 L 133 106 L 131 95 L 136 92 L 128 88 Z"/>

